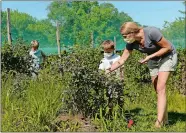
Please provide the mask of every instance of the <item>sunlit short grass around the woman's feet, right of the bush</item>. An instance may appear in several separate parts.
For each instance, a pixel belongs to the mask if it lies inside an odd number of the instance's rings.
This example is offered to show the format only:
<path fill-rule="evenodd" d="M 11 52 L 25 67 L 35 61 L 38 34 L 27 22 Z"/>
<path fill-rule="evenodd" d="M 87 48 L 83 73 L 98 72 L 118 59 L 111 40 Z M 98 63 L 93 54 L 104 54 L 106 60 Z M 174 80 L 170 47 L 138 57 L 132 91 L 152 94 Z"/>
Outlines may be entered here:
<path fill-rule="evenodd" d="M 154 128 L 156 120 L 156 94 L 151 85 L 144 85 L 141 93 L 134 101 L 125 98 L 125 115 L 118 115 L 113 120 L 95 119 L 97 125 L 101 125 L 100 131 L 109 132 L 185 132 L 186 131 L 186 97 L 178 92 L 172 93 L 167 88 L 169 125 L 161 129 Z M 134 120 L 134 126 L 127 128 L 124 117 L 126 111 Z M 123 113 L 124 114 L 124 113 Z M 106 124 L 105 124 L 106 123 Z"/>

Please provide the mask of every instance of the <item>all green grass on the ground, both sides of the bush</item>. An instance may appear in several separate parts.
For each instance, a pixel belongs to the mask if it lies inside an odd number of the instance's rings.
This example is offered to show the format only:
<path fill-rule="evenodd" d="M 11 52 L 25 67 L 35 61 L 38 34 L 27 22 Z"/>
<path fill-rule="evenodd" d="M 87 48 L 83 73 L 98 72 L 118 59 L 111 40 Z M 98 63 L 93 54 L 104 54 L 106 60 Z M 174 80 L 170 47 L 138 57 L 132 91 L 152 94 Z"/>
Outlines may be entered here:
<path fill-rule="evenodd" d="M 77 123 L 69 121 L 57 125 L 54 121 L 57 112 L 63 106 L 63 85 L 55 77 L 44 76 L 40 80 L 25 80 L 17 89 L 13 85 L 14 78 L 9 76 L 2 80 L 2 131 L 9 132 L 36 132 L 36 131 L 78 131 Z M 171 85 L 167 88 L 168 113 L 170 123 L 161 129 L 154 128 L 156 120 L 156 93 L 152 85 L 128 84 L 131 96 L 125 97 L 122 112 L 116 106 L 113 117 L 106 119 L 102 111 L 100 117 L 92 118 L 92 124 L 101 132 L 185 132 L 186 107 L 185 96 L 173 91 Z M 139 92 L 139 93 L 135 93 Z M 131 115 L 134 126 L 127 128 L 126 115 Z M 55 129 L 57 128 L 57 130 Z"/>

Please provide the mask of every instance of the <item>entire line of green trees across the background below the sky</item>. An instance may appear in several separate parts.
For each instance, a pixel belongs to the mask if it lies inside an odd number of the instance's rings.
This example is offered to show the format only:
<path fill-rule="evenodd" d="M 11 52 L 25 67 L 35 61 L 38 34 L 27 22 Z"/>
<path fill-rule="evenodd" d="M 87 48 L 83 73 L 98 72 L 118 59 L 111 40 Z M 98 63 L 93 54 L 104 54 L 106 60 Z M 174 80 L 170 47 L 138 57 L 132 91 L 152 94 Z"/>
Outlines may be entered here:
<path fill-rule="evenodd" d="M 13 43 L 20 39 L 25 43 L 37 39 L 41 47 L 56 46 L 57 20 L 60 28 L 60 43 L 63 46 L 89 45 L 91 41 L 94 46 L 97 46 L 104 39 L 114 40 L 114 37 L 117 45 L 123 45 L 124 41 L 119 32 L 120 26 L 123 22 L 134 21 L 127 13 L 119 12 L 113 4 L 99 4 L 97 1 L 54 1 L 47 10 L 47 19 L 43 20 L 18 10 L 11 10 Z M 183 11 L 180 13 L 185 14 Z M 7 42 L 6 11 L 2 11 L 1 15 L 2 42 L 5 44 Z M 184 22 L 185 18 L 177 18 L 174 22 L 165 21 L 162 29 L 165 37 L 171 40 L 183 40 Z"/>

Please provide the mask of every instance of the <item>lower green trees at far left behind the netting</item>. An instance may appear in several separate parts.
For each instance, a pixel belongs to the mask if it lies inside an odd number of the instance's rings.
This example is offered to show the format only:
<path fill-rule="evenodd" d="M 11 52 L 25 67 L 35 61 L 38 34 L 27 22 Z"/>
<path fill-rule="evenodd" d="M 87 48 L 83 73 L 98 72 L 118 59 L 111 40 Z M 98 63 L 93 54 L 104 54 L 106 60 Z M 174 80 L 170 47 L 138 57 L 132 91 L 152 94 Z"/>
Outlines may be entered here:
<path fill-rule="evenodd" d="M 2 42 L 7 40 L 6 11 L 2 12 Z M 41 46 L 53 44 L 55 42 L 55 27 L 49 20 L 37 20 L 27 13 L 10 11 L 11 34 L 13 44 L 17 40 L 23 39 L 26 43 L 31 40 L 39 40 Z"/>

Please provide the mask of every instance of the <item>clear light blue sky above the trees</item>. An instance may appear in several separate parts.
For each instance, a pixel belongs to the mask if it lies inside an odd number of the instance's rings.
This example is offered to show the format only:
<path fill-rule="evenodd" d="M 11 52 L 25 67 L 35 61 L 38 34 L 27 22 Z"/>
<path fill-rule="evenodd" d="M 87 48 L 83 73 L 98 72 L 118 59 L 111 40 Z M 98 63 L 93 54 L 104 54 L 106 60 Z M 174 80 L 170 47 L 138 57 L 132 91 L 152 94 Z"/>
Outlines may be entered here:
<path fill-rule="evenodd" d="M 141 25 L 163 28 L 164 21 L 173 22 L 185 17 L 179 12 L 185 11 L 183 1 L 105 1 L 112 3 L 118 11 L 123 11 Z M 2 10 L 10 8 L 28 13 L 37 19 L 47 18 L 47 6 L 51 1 L 3 1 Z M 100 2 L 102 3 L 102 2 Z"/>

